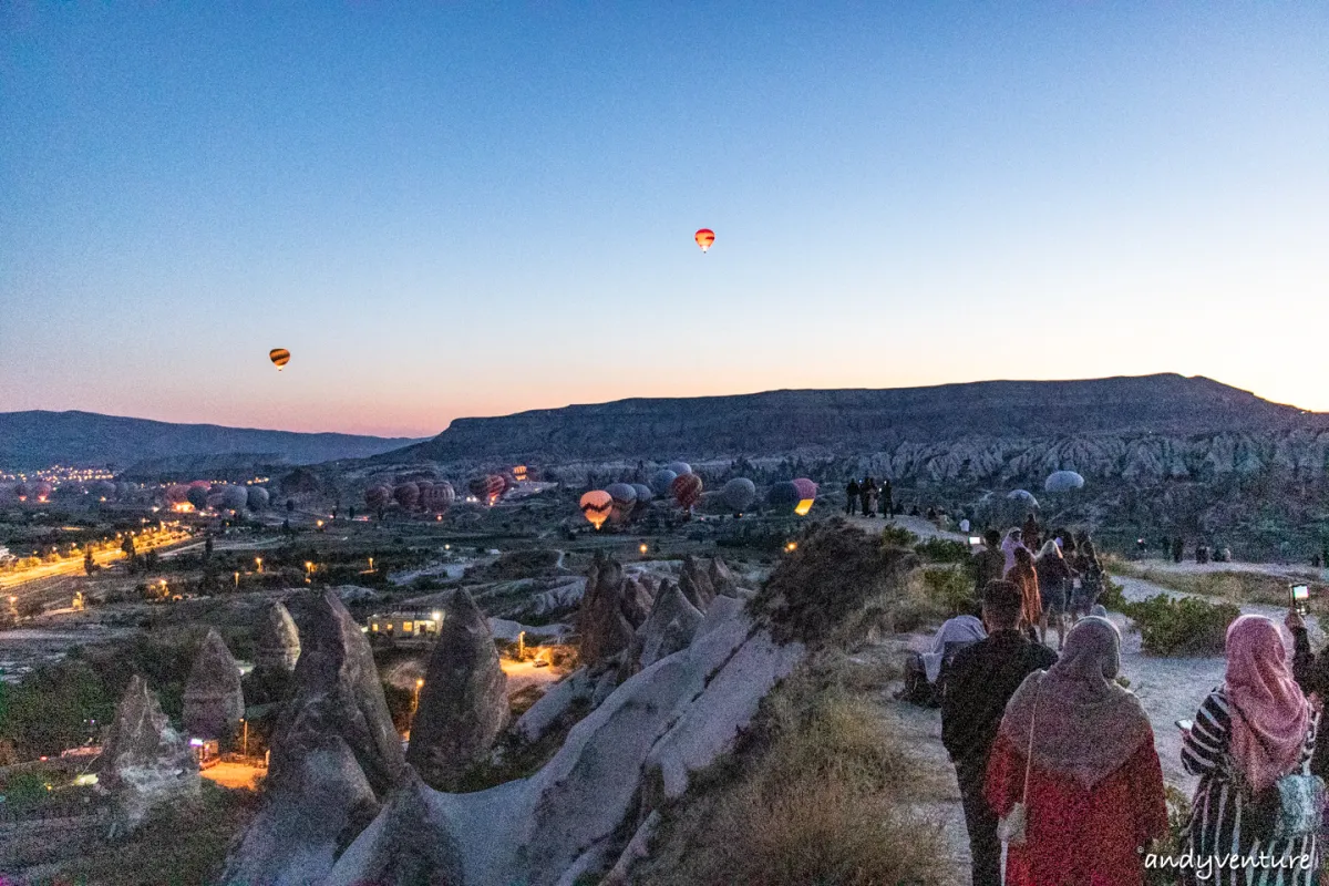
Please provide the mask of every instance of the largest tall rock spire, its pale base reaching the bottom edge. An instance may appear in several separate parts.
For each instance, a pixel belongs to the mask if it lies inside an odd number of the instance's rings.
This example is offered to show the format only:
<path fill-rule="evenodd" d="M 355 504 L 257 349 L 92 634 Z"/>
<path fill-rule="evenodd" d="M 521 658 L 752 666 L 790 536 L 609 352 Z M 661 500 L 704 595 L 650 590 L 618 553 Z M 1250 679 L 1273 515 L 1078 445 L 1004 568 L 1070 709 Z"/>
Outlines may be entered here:
<path fill-rule="evenodd" d="M 278 720 L 264 806 L 227 883 L 318 883 L 409 769 L 369 643 L 332 591 L 310 607 L 295 697 Z"/>

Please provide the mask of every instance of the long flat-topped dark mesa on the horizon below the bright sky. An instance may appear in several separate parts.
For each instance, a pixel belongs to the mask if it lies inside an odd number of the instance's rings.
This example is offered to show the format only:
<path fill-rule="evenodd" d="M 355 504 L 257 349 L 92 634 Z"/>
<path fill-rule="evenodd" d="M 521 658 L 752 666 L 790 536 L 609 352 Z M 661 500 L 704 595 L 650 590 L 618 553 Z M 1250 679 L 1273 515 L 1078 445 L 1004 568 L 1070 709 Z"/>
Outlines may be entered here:
<path fill-rule="evenodd" d="M 380 460 L 613 460 L 896 452 L 904 444 L 1116 433 L 1325 429 L 1324 416 L 1203 377 L 982 381 L 888 391 L 772 391 L 619 400 L 459 418 Z"/>

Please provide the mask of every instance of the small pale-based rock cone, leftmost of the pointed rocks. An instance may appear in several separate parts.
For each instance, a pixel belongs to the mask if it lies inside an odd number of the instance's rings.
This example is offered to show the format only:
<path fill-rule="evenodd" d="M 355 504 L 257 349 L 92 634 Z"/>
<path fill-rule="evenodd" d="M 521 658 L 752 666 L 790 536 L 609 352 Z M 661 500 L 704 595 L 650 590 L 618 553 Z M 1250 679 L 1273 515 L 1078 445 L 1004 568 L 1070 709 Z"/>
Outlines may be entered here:
<path fill-rule="evenodd" d="M 116 800 L 116 830 L 136 828 L 161 805 L 198 796 L 198 762 L 162 713 L 157 693 L 134 676 L 102 743 L 98 785 Z"/>

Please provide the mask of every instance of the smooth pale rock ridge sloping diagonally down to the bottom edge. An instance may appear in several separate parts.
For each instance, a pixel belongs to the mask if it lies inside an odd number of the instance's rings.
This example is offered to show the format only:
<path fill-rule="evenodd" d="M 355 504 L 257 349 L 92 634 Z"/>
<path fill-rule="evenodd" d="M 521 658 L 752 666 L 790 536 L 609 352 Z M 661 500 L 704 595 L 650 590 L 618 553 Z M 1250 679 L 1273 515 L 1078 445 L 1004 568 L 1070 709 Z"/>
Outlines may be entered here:
<path fill-rule="evenodd" d="M 650 798 L 670 794 L 731 748 L 760 699 L 801 655 L 800 646 L 776 646 L 754 632 L 739 600 L 718 603 L 692 646 L 619 685 L 534 776 L 466 794 L 421 788 L 420 801 L 409 801 L 416 812 L 404 821 L 380 814 L 328 883 L 376 882 L 381 847 L 403 845 L 411 834 L 449 847 L 415 869 L 417 882 L 554 886 L 606 870 L 649 820 Z M 719 692 L 714 701 L 707 700 L 711 687 Z M 651 784 L 662 788 L 647 789 Z M 460 881 L 449 879 L 456 877 L 453 846 Z"/>

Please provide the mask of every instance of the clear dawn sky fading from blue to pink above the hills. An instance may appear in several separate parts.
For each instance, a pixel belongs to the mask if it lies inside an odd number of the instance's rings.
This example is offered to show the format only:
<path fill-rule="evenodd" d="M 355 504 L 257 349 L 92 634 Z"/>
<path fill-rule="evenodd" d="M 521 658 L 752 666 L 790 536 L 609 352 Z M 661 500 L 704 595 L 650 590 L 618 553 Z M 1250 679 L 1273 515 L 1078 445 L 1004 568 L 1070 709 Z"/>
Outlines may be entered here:
<path fill-rule="evenodd" d="M 0 4 L 0 410 L 1329 410 L 1326 46 L 1322 0 Z"/>

